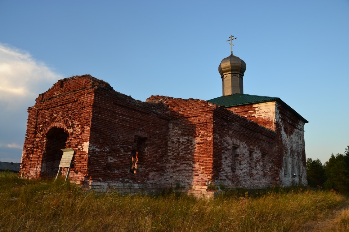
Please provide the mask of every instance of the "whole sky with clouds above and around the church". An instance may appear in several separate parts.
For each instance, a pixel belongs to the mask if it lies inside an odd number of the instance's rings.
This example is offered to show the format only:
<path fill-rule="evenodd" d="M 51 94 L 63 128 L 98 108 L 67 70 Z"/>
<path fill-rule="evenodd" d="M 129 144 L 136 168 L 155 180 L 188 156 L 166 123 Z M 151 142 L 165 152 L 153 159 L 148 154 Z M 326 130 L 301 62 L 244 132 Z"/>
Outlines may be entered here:
<path fill-rule="evenodd" d="M 231 34 L 244 93 L 280 97 L 309 121 L 307 157 L 349 145 L 348 0 L 1 0 L 0 22 L 0 147 L 21 149 L 27 108 L 72 75 L 142 101 L 221 96 Z"/>

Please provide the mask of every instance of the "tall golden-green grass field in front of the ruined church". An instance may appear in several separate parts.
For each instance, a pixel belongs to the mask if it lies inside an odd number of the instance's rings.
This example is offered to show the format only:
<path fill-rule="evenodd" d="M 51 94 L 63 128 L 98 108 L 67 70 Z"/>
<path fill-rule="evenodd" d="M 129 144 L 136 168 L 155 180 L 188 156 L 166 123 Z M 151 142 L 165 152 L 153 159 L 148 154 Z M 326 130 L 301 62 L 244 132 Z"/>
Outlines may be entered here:
<path fill-rule="evenodd" d="M 291 231 L 346 199 L 297 189 L 214 200 L 167 193 L 98 194 L 76 185 L 0 174 L 1 231 Z M 344 215 L 344 224 L 349 216 Z M 340 226 L 340 223 L 339 223 Z"/>

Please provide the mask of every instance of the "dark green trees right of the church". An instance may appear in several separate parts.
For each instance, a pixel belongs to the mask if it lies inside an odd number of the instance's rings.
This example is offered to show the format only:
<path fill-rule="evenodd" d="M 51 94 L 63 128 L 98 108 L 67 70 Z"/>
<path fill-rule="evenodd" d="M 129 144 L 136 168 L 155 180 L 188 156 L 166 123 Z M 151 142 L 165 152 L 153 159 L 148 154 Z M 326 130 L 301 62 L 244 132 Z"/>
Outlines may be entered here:
<path fill-rule="evenodd" d="M 319 159 L 306 159 L 308 185 L 349 192 L 349 145 L 343 154 L 332 154 L 323 165 Z"/>

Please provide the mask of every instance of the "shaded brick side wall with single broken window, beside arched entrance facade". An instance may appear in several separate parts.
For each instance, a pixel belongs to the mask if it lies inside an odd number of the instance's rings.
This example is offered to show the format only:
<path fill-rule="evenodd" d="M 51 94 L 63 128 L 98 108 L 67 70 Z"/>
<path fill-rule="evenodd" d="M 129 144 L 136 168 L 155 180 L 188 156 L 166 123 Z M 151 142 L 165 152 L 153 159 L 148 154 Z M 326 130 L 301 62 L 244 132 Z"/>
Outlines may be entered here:
<path fill-rule="evenodd" d="M 163 103 L 141 102 L 111 88 L 96 88 L 88 144 L 90 188 L 152 192 L 162 187 L 166 112 Z M 131 171 L 133 150 L 138 161 Z"/>

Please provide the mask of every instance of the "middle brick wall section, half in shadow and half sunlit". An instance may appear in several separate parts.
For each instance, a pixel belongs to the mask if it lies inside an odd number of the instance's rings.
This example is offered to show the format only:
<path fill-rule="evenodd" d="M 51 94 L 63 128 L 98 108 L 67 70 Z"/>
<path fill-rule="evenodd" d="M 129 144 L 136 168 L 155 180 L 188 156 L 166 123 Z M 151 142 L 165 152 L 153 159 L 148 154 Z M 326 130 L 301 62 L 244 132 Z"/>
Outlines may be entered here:
<path fill-rule="evenodd" d="M 148 102 L 169 107 L 168 153 L 165 163 L 167 185 L 206 194 L 213 174 L 213 111 L 215 105 L 199 99 L 151 96 Z"/>

